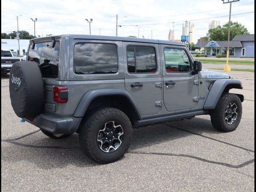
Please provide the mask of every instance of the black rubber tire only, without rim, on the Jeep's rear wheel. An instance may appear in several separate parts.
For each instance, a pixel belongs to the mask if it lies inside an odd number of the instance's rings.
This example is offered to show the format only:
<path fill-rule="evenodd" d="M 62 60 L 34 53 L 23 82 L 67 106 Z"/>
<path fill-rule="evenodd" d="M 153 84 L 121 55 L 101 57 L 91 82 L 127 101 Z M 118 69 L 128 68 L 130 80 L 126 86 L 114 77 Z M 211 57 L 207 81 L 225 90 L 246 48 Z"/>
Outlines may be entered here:
<path fill-rule="evenodd" d="M 122 126 L 123 137 L 120 146 L 113 152 L 104 152 L 98 146 L 98 133 L 107 122 Z M 124 112 L 116 108 L 100 108 L 82 120 L 79 127 L 80 148 L 88 158 L 106 164 L 119 160 L 128 150 L 132 139 L 132 125 Z"/>

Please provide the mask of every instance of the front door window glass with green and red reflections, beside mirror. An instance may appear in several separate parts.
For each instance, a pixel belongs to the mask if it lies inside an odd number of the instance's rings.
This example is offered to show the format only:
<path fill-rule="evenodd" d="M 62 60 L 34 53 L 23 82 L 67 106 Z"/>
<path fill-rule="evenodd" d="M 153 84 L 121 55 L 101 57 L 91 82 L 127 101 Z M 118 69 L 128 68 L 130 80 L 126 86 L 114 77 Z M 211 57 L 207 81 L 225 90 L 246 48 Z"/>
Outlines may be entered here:
<path fill-rule="evenodd" d="M 164 48 L 166 72 L 187 72 L 191 70 L 188 55 L 183 49 Z"/>

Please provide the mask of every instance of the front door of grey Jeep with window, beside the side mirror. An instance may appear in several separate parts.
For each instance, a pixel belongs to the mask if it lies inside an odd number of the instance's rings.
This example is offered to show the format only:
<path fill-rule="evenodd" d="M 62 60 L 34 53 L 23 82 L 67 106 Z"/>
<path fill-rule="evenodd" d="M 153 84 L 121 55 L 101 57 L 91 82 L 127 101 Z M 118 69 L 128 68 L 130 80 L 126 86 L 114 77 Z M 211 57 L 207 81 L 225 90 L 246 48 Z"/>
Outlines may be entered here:
<path fill-rule="evenodd" d="M 189 112 L 198 104 L 198 74 L 192 74 L 192 58 L 186 48 L 161 45 L 164 105 L 170 112 Z"/>

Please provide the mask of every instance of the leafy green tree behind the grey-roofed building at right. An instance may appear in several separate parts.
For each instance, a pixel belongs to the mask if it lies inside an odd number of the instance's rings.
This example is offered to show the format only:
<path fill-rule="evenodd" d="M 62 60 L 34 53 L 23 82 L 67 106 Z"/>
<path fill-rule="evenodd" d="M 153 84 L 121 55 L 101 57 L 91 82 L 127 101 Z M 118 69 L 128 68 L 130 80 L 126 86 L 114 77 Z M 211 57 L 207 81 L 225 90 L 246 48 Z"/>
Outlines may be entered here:
<path fill-rule="evenodd" d="M 238 22 L 230 22 L 230 40 L 236 35 L 250 34 L 244 25 Z M 218 26 L 214 29 L 210 29 L 207 33 L 207 38 L 214 41 L 226 41 L 228 40 L 228 23 L 222 27 Z"/>

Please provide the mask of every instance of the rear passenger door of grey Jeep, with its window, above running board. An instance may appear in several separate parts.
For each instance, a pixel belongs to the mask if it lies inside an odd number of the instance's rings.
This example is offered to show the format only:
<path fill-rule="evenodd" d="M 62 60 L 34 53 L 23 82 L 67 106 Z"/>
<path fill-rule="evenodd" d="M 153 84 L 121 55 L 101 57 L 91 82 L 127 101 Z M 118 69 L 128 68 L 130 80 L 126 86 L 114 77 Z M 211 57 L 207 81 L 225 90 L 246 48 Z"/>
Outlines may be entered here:
<path fill-rule="evenodd" d="M 142 115 L 162 109 L 162 76 L 158 44 L 123 42 L 125 89 Z"/>

